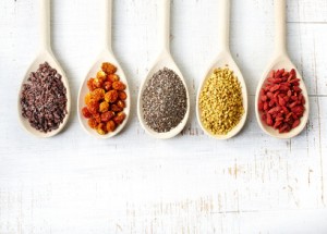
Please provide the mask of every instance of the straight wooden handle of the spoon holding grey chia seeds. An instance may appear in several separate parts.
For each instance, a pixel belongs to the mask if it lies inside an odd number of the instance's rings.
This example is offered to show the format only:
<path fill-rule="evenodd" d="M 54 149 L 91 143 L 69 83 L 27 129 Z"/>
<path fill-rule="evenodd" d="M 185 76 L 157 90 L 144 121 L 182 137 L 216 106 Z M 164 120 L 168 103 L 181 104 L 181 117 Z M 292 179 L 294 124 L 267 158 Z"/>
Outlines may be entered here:
<path fill-rule="evenodd" d="M 159 0 L 159 48 L 169 51 L 170 41 L 170 0 Z"/>

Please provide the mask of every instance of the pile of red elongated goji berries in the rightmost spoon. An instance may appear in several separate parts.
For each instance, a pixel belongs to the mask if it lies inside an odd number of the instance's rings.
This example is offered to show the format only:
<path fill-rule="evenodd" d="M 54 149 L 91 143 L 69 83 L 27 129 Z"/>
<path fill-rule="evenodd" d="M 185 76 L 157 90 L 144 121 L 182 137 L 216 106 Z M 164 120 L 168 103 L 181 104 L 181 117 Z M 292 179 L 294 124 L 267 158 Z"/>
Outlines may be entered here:
<path fill-rule="evenodd" d="M 279 133 L 288 133 L 299 126 L 304 104 L 305 98 L 295 70 L 272 70 L 259 94 L 258 110 L 262 112 L 262 120 Z"/>

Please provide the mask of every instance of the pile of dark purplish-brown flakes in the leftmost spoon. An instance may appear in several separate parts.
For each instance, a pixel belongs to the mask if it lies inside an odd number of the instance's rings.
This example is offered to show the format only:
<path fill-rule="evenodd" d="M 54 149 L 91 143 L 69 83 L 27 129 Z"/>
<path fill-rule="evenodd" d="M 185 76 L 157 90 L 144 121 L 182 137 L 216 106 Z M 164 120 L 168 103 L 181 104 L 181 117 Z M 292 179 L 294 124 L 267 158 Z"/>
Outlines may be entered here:
<path fill-rule="evenodd" d="M 27 81 L 21 93 L 22 115 L 43 133 L 57 130 L 68 113 L 61 75 L 45 62 Z"/>

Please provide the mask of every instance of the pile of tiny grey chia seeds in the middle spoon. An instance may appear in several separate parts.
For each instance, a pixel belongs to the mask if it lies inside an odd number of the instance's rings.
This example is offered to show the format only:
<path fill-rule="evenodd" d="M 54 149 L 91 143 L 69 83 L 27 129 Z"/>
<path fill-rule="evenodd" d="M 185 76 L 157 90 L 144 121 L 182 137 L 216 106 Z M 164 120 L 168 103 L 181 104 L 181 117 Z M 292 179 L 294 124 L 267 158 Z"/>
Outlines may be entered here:
<path fill-rule="evenodd" d="M 186 89 L 181 78 L 167 67 L 147 82 L 142 101 L 144 120 L 157 133 L 177 127 L 186 113 Z"/>

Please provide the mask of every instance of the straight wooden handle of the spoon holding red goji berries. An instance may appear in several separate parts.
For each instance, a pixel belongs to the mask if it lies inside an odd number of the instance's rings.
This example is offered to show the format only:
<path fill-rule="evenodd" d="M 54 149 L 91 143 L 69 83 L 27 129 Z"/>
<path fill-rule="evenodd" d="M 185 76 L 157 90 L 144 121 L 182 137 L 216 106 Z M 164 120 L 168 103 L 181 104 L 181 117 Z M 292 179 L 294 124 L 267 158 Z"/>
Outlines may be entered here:
<path fill-rule="evenodd" d="M 275 0 L 275 21 L 276 21 L 276 53 L 287 52 L 286 42 L 286 0 Z"/>

